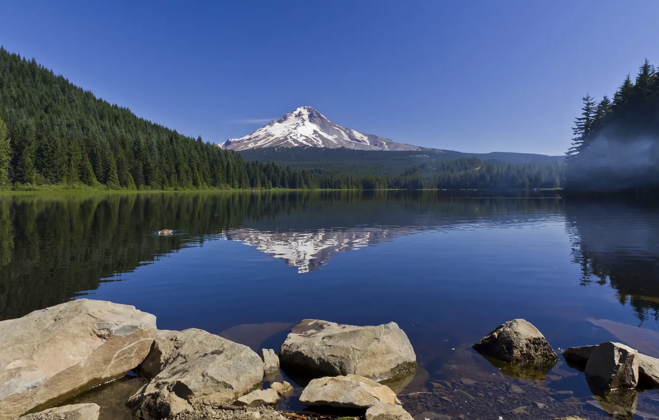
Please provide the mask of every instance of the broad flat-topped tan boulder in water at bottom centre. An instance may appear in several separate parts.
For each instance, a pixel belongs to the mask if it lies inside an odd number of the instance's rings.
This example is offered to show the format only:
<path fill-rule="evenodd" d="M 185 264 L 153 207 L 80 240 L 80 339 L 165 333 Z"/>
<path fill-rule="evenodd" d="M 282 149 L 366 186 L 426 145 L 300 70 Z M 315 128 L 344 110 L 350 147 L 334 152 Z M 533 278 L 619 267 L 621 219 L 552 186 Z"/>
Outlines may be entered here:
<path fill-rule="evenodd" d="M 374 327 L 304 319 L 279 349 L 285 371 L 310 377 L 360 375 L 376 381 L 403 377 L 416 369 L 416 354 L 396 323 Z"/>

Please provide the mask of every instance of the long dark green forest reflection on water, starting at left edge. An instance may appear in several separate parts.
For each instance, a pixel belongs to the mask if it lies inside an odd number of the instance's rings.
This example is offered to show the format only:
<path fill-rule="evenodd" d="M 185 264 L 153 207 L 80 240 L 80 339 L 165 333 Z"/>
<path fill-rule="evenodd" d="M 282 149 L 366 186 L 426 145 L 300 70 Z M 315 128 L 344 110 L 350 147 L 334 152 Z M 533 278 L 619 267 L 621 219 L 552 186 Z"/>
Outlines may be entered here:
<path fill-rule="evenodd" d="M 561 205 L 555 194 L 546 200 L 482 198 L 486 195 L 381 191 L 0 196 L 0 319 L 65 302 L 97 289 L 102 281 L 121 280 L 115 275 L 165 253 L 198 246 L 245 224 L 257 230 L 345 230 L 366 224 L 416 230 L 486 215 L 537 215 Z M 158 236 L 162 228 L 179 234 Z"/>

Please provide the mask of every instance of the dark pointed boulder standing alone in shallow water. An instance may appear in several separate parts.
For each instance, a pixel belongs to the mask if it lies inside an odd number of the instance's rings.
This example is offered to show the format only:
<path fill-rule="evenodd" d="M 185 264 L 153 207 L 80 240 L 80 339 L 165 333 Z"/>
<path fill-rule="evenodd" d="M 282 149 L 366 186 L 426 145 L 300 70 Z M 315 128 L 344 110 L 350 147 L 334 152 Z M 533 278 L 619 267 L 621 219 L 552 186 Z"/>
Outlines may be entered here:
<path fill-rule="evenodd" d="M 476 352 L 506 362 L 556 363 L 558 355 L 538 328 L 525 319 L 496 327 L 473 345 Z"/>

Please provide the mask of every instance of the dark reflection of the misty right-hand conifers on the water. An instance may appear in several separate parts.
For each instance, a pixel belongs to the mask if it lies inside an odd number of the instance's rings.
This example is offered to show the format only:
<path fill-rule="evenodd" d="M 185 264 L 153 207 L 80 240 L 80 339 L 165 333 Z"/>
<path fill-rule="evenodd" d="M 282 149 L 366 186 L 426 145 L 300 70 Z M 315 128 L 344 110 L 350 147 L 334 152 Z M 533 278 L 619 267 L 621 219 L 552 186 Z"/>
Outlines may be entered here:
<path fill-rule="evenodd" d="M 582 201 L 565 204 L 573 262 L 583 286 L 609 285 L 643 323 L 659 320 L 657 203 Z"/>

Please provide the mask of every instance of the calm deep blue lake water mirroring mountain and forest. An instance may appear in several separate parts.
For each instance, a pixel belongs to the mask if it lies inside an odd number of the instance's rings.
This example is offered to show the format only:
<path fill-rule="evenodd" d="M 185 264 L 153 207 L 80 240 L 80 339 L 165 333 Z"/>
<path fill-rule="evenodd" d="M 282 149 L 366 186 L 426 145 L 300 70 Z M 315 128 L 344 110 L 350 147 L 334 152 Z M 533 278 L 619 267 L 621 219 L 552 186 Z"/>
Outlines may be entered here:
<path fill-rule="evenodd" d="M 0 195 L 0 319 L 78 297 L 255 350 L 278 348 L 305 318 L 395 321 L 420 365 L 396 389 L 417 417 L 659 413 L 656 391 L 598 393 L 562 358 L 530 381 L 469 348 L 525 318 L 557 352 L 615 340 L 659 357 L 650 204 L 556 192 Z"/>

